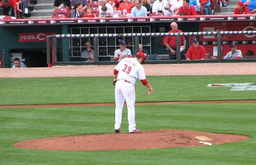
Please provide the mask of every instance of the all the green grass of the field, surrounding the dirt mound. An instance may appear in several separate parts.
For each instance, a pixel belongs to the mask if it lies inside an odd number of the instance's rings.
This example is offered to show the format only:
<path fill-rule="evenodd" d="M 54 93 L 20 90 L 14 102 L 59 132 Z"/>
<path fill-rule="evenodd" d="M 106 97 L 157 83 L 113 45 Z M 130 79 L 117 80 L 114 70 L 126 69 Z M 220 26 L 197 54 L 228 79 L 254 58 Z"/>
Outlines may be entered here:
<path fill-rule="evenodd" d="M 209 88 L 212 83 L 251 83 L 247 76 L 150 76 L 154 94 L 136 84 L 137 102 L 255 100 L 255 91 Z M 114 102 L 112 77 L 0 79 L 0 105 Z M 256 103 L 136 106 L 141 130 L 183 129 L 241 134 L 251 139 L 204 147 L 128 151 L 19 149 L 27 139 L 113 133 L 115 106 L 0 109 L 0 164 L 254 164 Z M 122 131 L 127 131 L 124 108 Z M 136 160 L 136 161 L 135 161 Z"/>

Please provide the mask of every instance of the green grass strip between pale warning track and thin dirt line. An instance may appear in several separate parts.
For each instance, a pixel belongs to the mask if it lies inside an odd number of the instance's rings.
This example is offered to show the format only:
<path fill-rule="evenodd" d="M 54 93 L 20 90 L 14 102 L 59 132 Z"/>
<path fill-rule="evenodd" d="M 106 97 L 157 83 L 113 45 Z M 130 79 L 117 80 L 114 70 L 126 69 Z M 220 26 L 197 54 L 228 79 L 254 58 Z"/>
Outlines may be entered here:
<path fill-rule="evenodd" d="M 212 83 L 253 83 L 256 75 L 148 76 L 154 95 L 136 83 L 136 102 L 254 100 L 256 92 L 207 87 Z M 114 103 L 113 77 L 2 78 L 0 105 Z M 10 99 L 11 98 L 11 99 Z"/>

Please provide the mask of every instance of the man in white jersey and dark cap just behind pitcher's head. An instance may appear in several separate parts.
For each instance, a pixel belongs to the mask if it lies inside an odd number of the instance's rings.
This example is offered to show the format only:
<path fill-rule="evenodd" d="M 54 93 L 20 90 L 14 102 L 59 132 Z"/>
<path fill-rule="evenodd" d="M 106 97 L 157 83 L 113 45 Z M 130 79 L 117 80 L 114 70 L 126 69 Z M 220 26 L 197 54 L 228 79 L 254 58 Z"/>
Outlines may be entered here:
<path fill-rule="evenodd" d="M 129 57 L 129 58 L 133 57 L 131 50 L 126 48 L 126 42 L 124 40 L 119 41 L 119 46 L 120 48 L 115 51 L 115 57 L 114 57 L 115 61 L 121 61 L 123 58 L 126 58 L 126 57 Z"/>

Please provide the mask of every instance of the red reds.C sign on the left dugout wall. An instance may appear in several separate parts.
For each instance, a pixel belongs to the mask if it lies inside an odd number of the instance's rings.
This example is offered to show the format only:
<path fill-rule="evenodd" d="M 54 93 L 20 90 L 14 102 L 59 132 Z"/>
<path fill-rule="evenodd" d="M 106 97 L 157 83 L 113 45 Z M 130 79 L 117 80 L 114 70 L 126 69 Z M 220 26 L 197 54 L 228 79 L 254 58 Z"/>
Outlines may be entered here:
<path fill-rule="evenodd" d="M 18 41 L 19 42 L 46 42 L 46 36 L 54 35 L 57 32 L 51 33 L 19 33 Z"/>

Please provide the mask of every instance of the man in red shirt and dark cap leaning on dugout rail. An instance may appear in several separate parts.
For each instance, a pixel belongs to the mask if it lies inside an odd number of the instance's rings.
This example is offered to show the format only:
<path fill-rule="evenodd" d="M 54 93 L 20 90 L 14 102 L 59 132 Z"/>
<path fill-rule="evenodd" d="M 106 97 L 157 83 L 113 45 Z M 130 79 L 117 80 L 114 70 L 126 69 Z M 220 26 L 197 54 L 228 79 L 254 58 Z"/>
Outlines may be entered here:
<path fill-rule="evenodd" d="M 204 60 L 206 59 L 205 49 L 199 44 L 197 38 L 193 38 L 193 45 L 187 50 L 186 60 Z"/>

